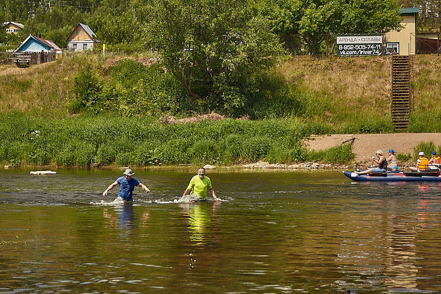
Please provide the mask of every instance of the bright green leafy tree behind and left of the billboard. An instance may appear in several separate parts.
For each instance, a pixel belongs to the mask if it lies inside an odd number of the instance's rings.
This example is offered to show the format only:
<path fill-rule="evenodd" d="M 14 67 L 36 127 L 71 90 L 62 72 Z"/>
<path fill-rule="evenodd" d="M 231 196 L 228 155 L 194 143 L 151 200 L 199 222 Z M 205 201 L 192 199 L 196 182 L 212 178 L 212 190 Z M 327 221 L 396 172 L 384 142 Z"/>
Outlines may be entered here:
<path fill-rule="evenodd" d="M 325 34 L 385 33 L 401 21 L 396 0 L 258 0 L 256 7 L 282 40 L 299 36 L 297 49 L 313 54 Z"/>

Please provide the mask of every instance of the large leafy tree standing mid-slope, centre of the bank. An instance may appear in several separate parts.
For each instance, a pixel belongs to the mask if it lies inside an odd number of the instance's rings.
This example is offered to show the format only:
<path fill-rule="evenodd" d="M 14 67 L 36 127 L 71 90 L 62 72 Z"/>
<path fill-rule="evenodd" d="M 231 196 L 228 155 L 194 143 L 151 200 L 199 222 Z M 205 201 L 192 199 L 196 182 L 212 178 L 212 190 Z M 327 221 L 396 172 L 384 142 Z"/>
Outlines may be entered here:
<path fill-rule="evenodd" d="M 250 77 L 284 51 L 246 0 L 156 0 L 145 34 L 194 109 L 239 113 Z"/>

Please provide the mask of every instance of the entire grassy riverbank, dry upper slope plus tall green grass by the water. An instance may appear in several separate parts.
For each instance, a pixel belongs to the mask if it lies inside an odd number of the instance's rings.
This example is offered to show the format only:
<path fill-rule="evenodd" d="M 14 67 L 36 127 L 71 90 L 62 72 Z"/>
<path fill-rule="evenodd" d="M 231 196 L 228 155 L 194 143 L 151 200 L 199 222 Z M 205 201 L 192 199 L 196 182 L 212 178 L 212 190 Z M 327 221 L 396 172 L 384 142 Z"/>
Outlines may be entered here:
<path fill-rule="evenodd" d="M 393 132 L 387 57 L 293 57 L 265 73 L 270 81 L 262 88 L 266 99 L 249 109 L 254 120 L 175 125 L 159 123 L 158 118 L 190 113 L 176 109 L 173 103 L 179 97 L 172 95 L 179 91 L 170 88 L 174 84 L 168 77 L 136 65 L 152 57 L 150 53 L 125 56 L 134 60 L 129 65 L 135 64 L 136 73 L 125 72 L 130 67 L 118 61 L 121 56 L 99 54 L 64 56 L 27 69 L 2 66 L 0 161 L 66 167 L 227 165 L 257 160 L 345 164 L 353 158 L 349 146 L 311 152 L 302 147 L 301 139 L 310 134 Z M 441 131 L 439 68 L 437 55 L 413 58 L 410 132 Z M 147 83 L 140 85 L 127 76 Z M 78 77 L 90 77 L 104 92 L 113 93 L 116 108 L 102 110 L 107 100 L 97 104 L 86 97 L 82 101 L 86 106 L 96 104 L 76 113 L 81 106 L 74 89 Z M 138 99 L 137 91 L 149 99 Z M 161 109 L 169 111 L 161 113 Z"/>

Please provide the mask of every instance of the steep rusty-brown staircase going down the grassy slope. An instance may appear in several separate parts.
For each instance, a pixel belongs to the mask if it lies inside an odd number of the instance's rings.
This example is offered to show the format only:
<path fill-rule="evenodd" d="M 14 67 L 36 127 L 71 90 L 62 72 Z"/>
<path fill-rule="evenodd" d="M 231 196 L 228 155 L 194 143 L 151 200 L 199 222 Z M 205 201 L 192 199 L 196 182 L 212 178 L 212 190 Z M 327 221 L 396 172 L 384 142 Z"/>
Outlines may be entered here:
<path fill-rule="evenodd" d="M 410 120 L 409 98 L 409 56 L 392 56 L 392 125 L 395 129 L 406 130 Z"/>

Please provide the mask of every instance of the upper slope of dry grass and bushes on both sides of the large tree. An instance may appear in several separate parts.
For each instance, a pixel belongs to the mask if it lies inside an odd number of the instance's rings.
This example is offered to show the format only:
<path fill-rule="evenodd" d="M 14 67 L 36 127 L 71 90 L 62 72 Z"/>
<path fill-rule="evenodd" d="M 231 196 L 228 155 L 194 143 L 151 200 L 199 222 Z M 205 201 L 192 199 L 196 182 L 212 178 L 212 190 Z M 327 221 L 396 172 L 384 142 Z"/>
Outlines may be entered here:
<path fill-rule="evenodd" d="M 142 116 L 191 115 L 191 112 L 177 109 L 173 104 L 182 93 L 174 88 L 168 76 L 157 71 L 140 73 L 142 67 L 121 61 L 128 58 L 134 60 L 134 64 L 142 65 L 148 64 L 146 61 L 152 57 L 152 53 L 109 55 L 105 58 L 100 54 L 75 54 L 27 69 L 1 66 L 0 111 L 63 118 L 75 111 L 75 101 L 81 98 L 75 94 L 75 77 L 89 77 L 101 83 L 101 91 L 114 93 L 110 97 L 113 106 L 118 106 L 118 109 L 113 109 L 114 112 Z M 390 116 L 391 62 L 391 57 L 386 56 L 292 57 L 281 67 L 265 73 L 267 84 L 261 89 L 267 93 L 264 101 L 248 109 L 247 114 L 252 119 L 283 117 L 299 118 L 307 123 L 327 123 L 335 133 L 393 132 Z M 436 54 L 413 56 L 411 68 L 409 132 L 440 132 L 441 57 Z M 86 69 L 90 71 L 90 76 L 84 76 Z M 139 79 L 143 78 L 148 80 L 140 84 Z M 140 92 L 148 99 L 136 100 Z M 90 104 L 93 101 L 86 102 Z M 130 102 L 135 105 L 133 109 L 130 109 Z M 92 110 L 95 113 L 101 111 Z"/>

